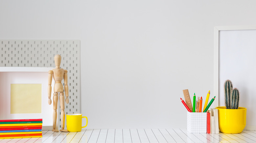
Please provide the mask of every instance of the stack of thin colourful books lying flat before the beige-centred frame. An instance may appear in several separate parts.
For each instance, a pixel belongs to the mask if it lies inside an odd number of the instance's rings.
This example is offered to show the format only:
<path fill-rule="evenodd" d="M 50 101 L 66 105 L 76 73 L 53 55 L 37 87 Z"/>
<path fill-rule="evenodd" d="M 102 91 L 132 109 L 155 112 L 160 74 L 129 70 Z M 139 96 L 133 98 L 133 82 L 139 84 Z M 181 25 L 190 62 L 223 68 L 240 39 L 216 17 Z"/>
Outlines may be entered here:
<path fill-rule="evenodd" d="M 43 119 L 0 120 L 0 139 L 42 137 Z"/>

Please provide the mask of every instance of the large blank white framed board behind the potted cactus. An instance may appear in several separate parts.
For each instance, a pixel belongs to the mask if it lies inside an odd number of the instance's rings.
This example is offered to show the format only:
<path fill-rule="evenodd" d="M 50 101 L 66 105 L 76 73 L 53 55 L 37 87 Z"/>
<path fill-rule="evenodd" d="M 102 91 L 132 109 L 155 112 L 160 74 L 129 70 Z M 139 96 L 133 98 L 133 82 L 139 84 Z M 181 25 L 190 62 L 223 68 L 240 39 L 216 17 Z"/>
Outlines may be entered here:
<path fill-rule="evenodd" d="M 225 106 L 224 82 L 231 80 L 247 108 L 245 130 L 256 130 L 255 54 L 256 25 L 214 27 L 214 106 Z"/>

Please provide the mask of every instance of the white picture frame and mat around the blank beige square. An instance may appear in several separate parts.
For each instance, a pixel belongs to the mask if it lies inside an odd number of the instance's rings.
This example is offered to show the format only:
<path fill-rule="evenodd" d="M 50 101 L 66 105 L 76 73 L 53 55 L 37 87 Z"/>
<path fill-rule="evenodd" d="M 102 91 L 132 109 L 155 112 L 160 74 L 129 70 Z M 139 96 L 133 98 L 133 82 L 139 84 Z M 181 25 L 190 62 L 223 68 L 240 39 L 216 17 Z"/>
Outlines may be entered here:
<path fill-rule="evenodd" d="M 46 67 L 0 67 L 0 120 L 43 119 L 42 130 L 53 129 L 53 103 L 48 104 L 48 71 Z M 11 114 L 11 84 L 40 84 L 41 113 Z M 52 86 L 54 80 L 52 81 Z M 52 91 L 53 96 L 53 91 Z M 40 98 L 40 97 L 39 97 Z M 30 100 L 30 99 L 24 99 Z M 31 101 L 33 102 L 33 101 Z M 33 107 L 31 107 L 33 108 Z M 57 111 L 58 112 L 58 111 Z M 58 119 L 58 118 L 57 118 Z M 58 120 L 56 122 L 58 127 Z"/>

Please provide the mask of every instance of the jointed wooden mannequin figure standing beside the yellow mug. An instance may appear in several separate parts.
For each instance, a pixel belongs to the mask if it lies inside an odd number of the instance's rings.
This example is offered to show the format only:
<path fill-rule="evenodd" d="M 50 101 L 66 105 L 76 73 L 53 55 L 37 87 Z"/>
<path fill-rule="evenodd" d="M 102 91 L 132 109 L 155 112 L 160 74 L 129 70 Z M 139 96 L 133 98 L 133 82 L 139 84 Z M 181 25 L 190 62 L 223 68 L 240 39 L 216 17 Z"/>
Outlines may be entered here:
<path fill-rule="evenodd" d="M 63 85 L 61 81 L 64 78 L 64 84 L 65 84 L 65 95 L 66 95 L 66 103 L 69 103 L 69 88 L 68 88 L 68 71 L 64 69 L 60 69 L 60 62 L 61 62 L 61 56 L 55 55 L 54 56 L 54 62 L 56 69 L 50 70 L 48 75 L 48 104 L 52 104 L 51 100 L 51 94 L 52 94 L 52 79 L 54 79 L 55 84 L 53 87 L 54 93 L 53 93 L 53 132 L 59 132 L 58 129 L 56 129 L 56 119 L 57 119 L 57 107 L 58 107 L 58 92 L 59 92 L 59 100 L 60 100 L 60 119 L 61 119 L 61 130 L 62 132 L 69 132 L 68 130 L 64 130 L 65 126 L 65 103 L 64 103 L 64 92 L 63 92 Z"/>

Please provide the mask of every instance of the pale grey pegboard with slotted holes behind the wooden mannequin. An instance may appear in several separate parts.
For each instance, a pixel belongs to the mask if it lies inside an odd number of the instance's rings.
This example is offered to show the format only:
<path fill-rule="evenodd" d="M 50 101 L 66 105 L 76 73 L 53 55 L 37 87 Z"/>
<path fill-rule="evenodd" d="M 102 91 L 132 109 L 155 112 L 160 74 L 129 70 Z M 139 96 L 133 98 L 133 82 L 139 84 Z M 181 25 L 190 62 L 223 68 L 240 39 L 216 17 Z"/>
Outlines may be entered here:
<path fill-rule="evenodd" d="M 68 70 L 69 104 L 65 103 L 65 112 L 80 113 L 80 40 L 0 40 L 0 52 L 0 67 L 54 69 L 54 56 L 61 55 L 60 68 Z"/>

